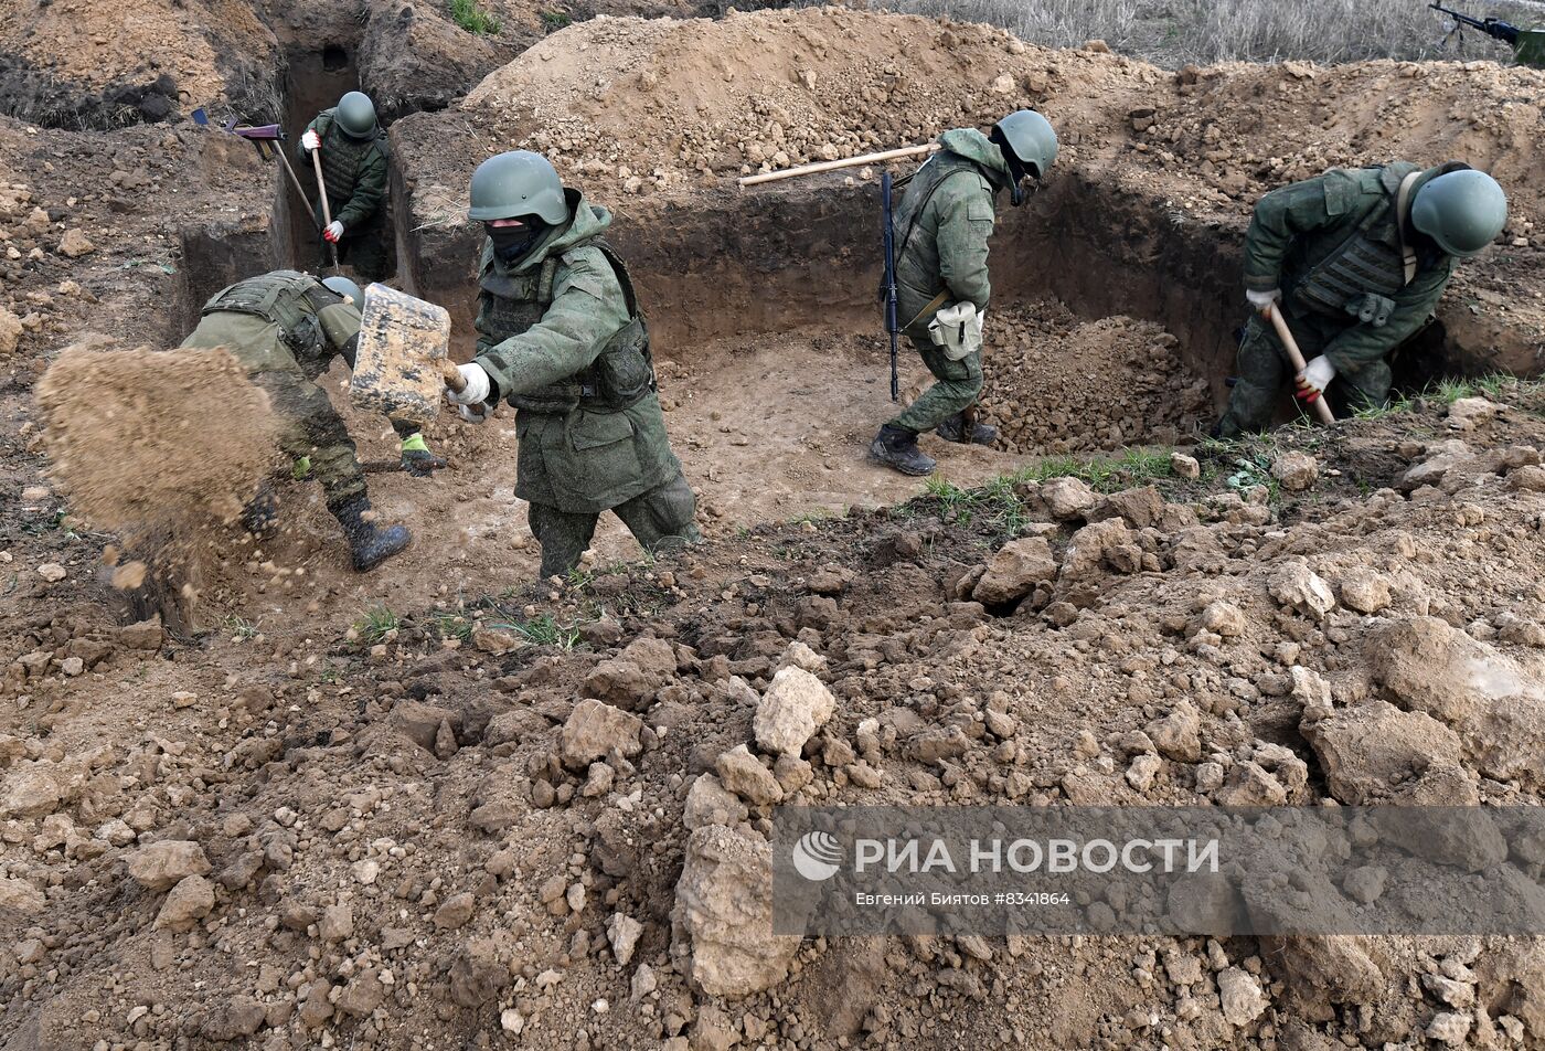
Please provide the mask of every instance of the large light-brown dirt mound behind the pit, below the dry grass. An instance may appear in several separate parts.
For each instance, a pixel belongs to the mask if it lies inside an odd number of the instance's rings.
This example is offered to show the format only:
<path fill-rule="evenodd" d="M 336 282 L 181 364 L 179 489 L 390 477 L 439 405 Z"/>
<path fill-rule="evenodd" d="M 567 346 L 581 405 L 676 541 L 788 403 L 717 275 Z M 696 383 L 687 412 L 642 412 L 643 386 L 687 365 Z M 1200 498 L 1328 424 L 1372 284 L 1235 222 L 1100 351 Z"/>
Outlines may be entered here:
<path fill-rule="evenodd" d="M 582 161 L 627 168 L 616 172 L 626 184 L 924 142 L 1074 83 L 1098 97 L 1097 85 L 1131 70 L 1162 76 L 1109 54 L 1034 48 L 986 25 L 839 8 L 596 19 L 490 74 L 465 105 L 535 121 L 531 148 L 581 170 Z"/>

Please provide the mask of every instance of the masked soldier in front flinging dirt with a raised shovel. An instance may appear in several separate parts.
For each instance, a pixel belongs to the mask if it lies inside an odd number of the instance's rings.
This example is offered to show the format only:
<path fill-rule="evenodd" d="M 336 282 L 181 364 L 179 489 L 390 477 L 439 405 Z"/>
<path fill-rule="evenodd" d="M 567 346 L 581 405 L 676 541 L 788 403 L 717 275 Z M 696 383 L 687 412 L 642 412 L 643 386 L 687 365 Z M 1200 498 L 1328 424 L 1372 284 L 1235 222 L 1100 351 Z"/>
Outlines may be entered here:
<path fill-rule="evenodd" d="M 474 423 L 501 400 L 516 408 L 514 495 L 530 501 L 542 578 L 578 564 L 604 510 L 644 550 L 697 541 L 644 317 L 601 240 L 612 213 L 565 190 L 545 158 L 516 150 L 477 165 L 470 215 L 488 235 L 477 357 L 460 366 L 467 388 L 447 396 Z"/>

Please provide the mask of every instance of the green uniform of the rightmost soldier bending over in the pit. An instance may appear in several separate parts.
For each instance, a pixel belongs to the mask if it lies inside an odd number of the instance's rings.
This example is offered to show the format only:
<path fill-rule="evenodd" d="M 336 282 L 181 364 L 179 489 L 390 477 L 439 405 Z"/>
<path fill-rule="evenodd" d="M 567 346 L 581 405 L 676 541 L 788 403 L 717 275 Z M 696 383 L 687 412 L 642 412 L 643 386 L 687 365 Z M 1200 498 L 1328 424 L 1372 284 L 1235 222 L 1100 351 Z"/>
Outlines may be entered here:
<path fill-rule="evenodd" d="M 1245 287 L 1282 291 L 1282 318 L 1304 360 L 1324 354 L 1336 368 L 1326 394 L 1338 414 L 1389 399 L 1390 354 L 1431 323 L 1454 274 L 1454 257 L 1406 223 L 1406 244 L 1415 252 L 1415 274 L 1406 280 L 1395 216 L 1401 181 L 1420 173 L 1407 192 L 1403 218 L 1409 219 L 1417 190 L 1465 167 L 1445 164 L 1423 172 L 1397 161 L 1332 168 L 1273 190 L 1256 204 L 1245 235 Z M 1233 437 L 1268 427 L 1292 379 L 1272 323 L 1251 315 L 1239 345 L 1239 377 L 1217 433 Z"/>

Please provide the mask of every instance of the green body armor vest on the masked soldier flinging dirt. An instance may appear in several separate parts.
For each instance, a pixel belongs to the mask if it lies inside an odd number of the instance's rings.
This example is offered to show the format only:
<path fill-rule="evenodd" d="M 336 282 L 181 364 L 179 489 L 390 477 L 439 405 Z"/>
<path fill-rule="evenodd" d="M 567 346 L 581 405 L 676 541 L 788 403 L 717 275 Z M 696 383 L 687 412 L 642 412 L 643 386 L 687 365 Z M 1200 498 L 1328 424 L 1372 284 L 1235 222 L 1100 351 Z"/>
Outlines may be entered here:
<path fill-rule="evenodd" d="M 607 340 L 595 362 L 582 371 L 525 394 L 511 394 L 510 405 L 518 410 L 561 414 L 586 408 L 596 413 L 621 413 L 655 389 L 649 328 L 638 309 L 632 278 L 621 257 L 601 238 L 581 241 L 561 257 L 544 260 L 539 267 L 527 274 L 501 274 L 494 266 L 491 246 L 485 246 L 477 281 L 490 297 L 484 318 L 488 331 L 484 335 L 502 343 L 541 321 L 553 303 L 553 281 L 558 277 L 559 261 L 586 247 L 599 249 L 616 274 L 627 300 L 627 325 Z"/>

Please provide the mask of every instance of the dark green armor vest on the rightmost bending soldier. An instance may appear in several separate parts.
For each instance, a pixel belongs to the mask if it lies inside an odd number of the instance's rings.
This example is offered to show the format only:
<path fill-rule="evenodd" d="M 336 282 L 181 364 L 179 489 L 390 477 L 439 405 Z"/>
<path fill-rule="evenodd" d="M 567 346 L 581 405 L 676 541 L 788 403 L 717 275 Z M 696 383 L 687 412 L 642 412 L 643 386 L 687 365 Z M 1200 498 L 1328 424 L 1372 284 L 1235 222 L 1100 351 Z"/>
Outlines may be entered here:
<path fill-rule="evenodd" d="M 1374 328 L 1389 320 L 1395 309 L 1394 297 L 1407 284 L 1407 249 L 1400 235 L 1397 195 L 1400 182 L 1418 170 L 1414 164 L 1392 164 L 1380 170 L 1384 199 L 1298 283 L 1293 297 L 1299 304 Z"/>

